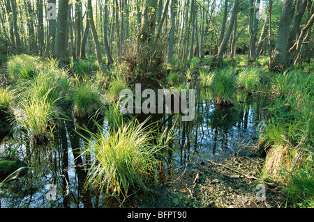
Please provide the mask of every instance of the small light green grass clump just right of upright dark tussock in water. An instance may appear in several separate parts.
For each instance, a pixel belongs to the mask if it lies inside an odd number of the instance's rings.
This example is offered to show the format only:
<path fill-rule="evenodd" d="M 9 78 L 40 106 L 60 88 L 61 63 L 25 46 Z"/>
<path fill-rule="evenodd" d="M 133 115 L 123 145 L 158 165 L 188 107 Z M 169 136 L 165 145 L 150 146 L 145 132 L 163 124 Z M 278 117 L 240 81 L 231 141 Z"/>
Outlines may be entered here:
<path fill-rule="evenodd" d="M 261 70 L 257 68 L 245 68 L 239 72 L 239 78 L 237 79 L 237 85 L 240 88 L 244 88 L 247 93 L 253 93 L 260 87 Z"/>

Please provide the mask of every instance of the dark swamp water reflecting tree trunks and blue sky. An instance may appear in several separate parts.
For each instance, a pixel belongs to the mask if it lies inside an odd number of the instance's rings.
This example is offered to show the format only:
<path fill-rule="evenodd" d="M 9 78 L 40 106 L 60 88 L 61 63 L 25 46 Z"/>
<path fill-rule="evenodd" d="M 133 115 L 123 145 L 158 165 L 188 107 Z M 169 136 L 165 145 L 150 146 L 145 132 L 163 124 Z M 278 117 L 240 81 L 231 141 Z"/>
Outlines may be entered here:
<path fill-rule="evenodd" d="M 197 95 L 193 121 L 181 122 L 176 115 L 163 116 L 165 125 L 174 125 L 177 137 L 169 144 L 173 151 L 167 151 L 169 157 L 159 172 L 160 182 L 172 180 L 174 169 L 181 166 L 193 167 L 202 159 L 227 158 L 228 154 L 241 152 L 241 147 L 257 141 L 260 109 L 267 105 L 265 97 L 238 92 L 234 106 L 218 109 L 211 96 L 202 93 Z M 96 121 L 108 129 L 104 118 Z M 117 207 L 108 197 L 100 197 L 84 186 L 91 164 L 90 155 L 84 152 L 84 138 L 77 134 L 89 136 L 78 127 L 84 125 L 96 132 L 91 120 L 59 120 L 54 140 L 41 146 L 31 145 L 19 131 L 1 138 L 2 157 L 20 159 L 31 167 L 20 180 L 1 187 L 1 207 Z"/>

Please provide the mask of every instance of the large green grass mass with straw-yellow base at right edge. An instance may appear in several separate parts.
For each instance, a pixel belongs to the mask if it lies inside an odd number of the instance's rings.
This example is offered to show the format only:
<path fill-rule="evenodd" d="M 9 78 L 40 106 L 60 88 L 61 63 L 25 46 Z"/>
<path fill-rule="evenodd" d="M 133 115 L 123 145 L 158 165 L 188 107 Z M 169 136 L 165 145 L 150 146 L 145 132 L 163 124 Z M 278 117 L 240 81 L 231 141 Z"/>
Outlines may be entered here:
<path fill-rule="evenodd" d="M 263 175 L 281 180 L 283 172 L 290 175 L 313 164 L 313 74 L 287 70 L 272 77 L 272 84 L 276 95 L 269 106 L 272 118 L 262 129 L 263 137 L 272 145 Z"/>

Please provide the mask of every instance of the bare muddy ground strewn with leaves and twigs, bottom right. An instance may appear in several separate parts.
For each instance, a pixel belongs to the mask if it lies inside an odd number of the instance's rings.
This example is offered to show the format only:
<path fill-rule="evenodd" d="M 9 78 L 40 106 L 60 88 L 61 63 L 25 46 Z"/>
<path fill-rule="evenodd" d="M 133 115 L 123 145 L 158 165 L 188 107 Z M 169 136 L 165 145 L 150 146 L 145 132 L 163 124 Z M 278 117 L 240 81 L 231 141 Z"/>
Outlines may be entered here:
<path fill-rule="evenodd" d="M 249 154 L 248 154 L 249 153 Z M 251 154 L 250 154 L 251 153 Z M 259 179 L 264 159 L 255 155 L 254 148 L 229 154 L 215 161 L 203 159 L 181 167 L 174 177 L 143 198 L 139 207 L 158 208 L 281 208 L 289 207 L 282 185 Z M 257 184 L 264 185 L 262 192 Z M 259 199 L 259 200 L 257 200 Z M 261 200 L 264 199 L 264 200 Z"/>

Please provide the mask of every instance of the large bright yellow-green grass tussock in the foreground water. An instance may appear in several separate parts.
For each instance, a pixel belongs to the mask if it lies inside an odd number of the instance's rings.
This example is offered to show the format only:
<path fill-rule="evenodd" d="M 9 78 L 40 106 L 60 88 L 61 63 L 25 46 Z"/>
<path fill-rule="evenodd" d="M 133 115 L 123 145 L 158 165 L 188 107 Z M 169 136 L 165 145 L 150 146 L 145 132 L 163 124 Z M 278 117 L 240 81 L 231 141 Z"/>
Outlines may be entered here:
<path fill-rule="evenodd" d="M 131 189 L 149 190 L 154 179 L 154 168 L 159 166 L 162 155 L 160 150 L 167 148 L 172 138 L 172 130 L 167 134 L 157 133 L 152 126 L 144 127 L 137 120 L 122 123 L 117 131 L 103 134 L 98 125 L 98 132 L 87 132 L 89 149 L 94 156 L 94 163 L 89 170 L 88 182 L 92 182 L 100 193 L 105 191 L 117 198 L 126 198 Z"/>

